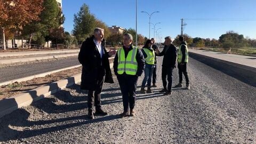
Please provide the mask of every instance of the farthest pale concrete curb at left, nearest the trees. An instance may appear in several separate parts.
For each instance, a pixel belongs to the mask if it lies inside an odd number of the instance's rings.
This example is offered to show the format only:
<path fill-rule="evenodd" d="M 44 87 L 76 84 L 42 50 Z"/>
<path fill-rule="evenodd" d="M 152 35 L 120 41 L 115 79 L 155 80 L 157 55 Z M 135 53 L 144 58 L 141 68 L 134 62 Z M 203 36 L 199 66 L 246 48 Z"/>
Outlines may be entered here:
<path fill-rule="evenodd" d="M 34 55 L 34 54 L 49 54 L 49 53 L 65 53 L 65 52 L 79 52 L 80 50 L 52 50 L 52 51 L 27 51 L 27 52 L 3 52 L 0 57 L 14 57 L 21 55 Z"/>

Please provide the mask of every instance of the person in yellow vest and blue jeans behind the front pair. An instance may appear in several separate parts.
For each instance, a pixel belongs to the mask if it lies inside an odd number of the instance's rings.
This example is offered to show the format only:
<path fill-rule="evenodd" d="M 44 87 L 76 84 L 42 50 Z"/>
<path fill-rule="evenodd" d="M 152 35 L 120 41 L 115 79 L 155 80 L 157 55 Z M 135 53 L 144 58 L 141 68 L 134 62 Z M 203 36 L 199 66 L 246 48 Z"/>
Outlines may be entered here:
<path fill-rule="evenodd" d="M 141 90 L 140 90 L 141 93 L 146 93 L 145 91 L 146 83 L 148 87 L 147 93 L 152 93 L 151 79 L 152 79 L 153 70 L 155 68 L 155 61 L 156 61 L 155 51 L 153 50 L 152 45 L 153 45 L 153 42 L 150 39 L 148 39 L 141 50 L 146 61 L 145 70 L 144 70 L 145 77 L 141 84 Z"/>

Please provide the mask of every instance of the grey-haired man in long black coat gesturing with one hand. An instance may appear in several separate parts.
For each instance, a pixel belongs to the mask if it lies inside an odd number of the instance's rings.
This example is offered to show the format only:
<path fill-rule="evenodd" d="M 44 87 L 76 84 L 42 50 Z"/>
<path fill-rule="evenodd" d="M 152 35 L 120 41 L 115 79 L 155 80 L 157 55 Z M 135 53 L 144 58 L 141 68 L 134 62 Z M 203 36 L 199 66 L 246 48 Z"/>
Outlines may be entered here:
<path fill-rule="evenodd" d="M 95 114 L 107 115 L 101 109 L 100 93 L 103 82 L 114 83 L 111 74 L 109 60 L 115 50 L 109 52 L 105 49 L 104 29 L 95 28 L 94 35 L 87 38 L 81 46 L 78 54 L 78 60 L 82 64 L 81 90 L 88 90 L 88 114 L 91 119 L 93 115 L 93 103 L 95 105 Z M 105 80 L 105 81 L 104 81 Z"/>

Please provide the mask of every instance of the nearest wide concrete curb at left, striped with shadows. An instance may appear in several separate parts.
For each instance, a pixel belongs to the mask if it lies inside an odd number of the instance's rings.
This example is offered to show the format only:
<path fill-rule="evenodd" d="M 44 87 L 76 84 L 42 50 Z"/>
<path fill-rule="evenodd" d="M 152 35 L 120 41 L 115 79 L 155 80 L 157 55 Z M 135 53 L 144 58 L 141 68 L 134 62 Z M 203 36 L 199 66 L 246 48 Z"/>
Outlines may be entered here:
<path fill-rule="evenodd" d="M 110 63 L 110 68 L 112 67 L 113 63 Z M 46 98 L 53 93 L 79 82 L 81 82 L 81 74 L 77 74 L 67 79 L 62 79 L 45 86 L 40 86 L 25 93 L 0 100 L 0 118 L 4 115 L 12 113 L 12 111 L 18 108 L 29 106 L 31 103 L 37 100 Z"/>

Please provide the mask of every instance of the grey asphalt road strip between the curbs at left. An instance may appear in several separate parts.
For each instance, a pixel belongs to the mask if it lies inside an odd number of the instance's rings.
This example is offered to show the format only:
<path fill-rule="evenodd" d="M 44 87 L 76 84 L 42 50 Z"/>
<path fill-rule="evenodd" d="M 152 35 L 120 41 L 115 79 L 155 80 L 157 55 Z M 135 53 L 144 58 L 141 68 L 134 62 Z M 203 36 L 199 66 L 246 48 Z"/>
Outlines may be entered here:
<path fill-rule="evenodd" d="M 43 62 L 28 63 L 19 66 L 2 67 L 0 68 L 0 83 L 79 64 L 77 57 L 69 57 L 59 60 L 46 60 Z"/>

